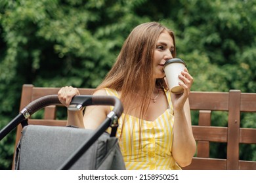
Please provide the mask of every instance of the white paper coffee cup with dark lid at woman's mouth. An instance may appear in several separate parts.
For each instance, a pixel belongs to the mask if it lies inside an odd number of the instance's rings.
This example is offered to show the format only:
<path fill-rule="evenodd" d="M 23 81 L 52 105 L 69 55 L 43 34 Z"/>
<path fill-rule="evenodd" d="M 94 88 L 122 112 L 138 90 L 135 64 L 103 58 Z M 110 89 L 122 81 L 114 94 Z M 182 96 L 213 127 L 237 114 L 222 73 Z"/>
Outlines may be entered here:
<path fill-rule="evenodd" d="M 165 62 L 165 65 L 163 65 L 163 71 L 165 72 L 171 93 L 183 93 L 183 88 L 179 86 L 179 82 L 183 81 L 179 79 L 178 75 L 181 75 L 181 71 L 184 71 L 184 67 L 186 67 L 186 63 L 180 58 L 169 59 Z"/>

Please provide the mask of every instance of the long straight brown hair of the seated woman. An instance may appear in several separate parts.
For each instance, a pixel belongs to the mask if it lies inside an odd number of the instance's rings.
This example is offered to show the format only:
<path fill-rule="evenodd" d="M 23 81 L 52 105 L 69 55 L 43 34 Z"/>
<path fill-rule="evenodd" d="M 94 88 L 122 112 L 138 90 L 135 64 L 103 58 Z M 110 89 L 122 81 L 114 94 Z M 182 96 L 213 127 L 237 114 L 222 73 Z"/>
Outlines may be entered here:
<path fill-rule="evenodd" d="M 173 31 L 167 29 L 158 22 L 140 24 L 131 31 L 121 48 L 112 69 L 106 75 L 102 84 L 96 88 L 112 88 L 121 91 L 120 100 L 123 103 L 124 112 L 129 114 L 131 110 L 140 111 L 140 119 L 143 119 L 150 104 L 150 99 L 155 87 L 165 86 L 163 78 L 154 80 L 153 56 L 156 42 L 163 31 L 167 31 L 173 38 L 173 58 L 176 57 L 175 37 Z M 136 99 L 135 93 L 145 97 Z"/>

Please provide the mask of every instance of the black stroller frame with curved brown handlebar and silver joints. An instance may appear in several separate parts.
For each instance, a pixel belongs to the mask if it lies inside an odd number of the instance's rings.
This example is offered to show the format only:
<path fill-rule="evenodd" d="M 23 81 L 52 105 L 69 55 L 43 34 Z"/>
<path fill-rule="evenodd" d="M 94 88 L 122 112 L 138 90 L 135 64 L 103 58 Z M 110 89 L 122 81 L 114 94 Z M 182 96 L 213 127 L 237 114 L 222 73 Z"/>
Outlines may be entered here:
<path fill-rule="evenodd" d="M 58 100 L 58 95 L 47 95 L 32 101 L 29 105 L 23 108 L 9 124 L 0 131 L 0 141 L 9 134 L 18 124 L 22 127 L 28 125 L 28 118 L 37 110 L 47 107 L 49 105 L 61 105 Z M 114 109 L 107 115 L 106 119 L 96 129 L 88 139 L 86 139 L 77 150 L 68 158 L 58 169 L 70 169 L 74 163 L 85 154 L 85 152 L 92 146 L 92 144 L 108 129 L 112 127 L 110 137 L 116 136 L 116 129 L 118 126 L 118 118 L 123 112 L 123 105 L 117 97 L 113 96 L 97 96 L 97 95 L 77 95 L 72 99 L 68 110 L 83 110 L 89 105 L 112 105 Z"/>

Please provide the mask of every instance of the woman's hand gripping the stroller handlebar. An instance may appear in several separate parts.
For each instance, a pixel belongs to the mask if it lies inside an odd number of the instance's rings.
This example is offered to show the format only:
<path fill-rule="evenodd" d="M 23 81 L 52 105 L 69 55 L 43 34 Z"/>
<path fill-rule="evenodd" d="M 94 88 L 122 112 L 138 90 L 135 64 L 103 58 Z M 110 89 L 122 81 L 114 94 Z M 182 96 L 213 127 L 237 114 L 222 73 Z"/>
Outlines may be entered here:
<path fill-rule="evenodd" d="M 60 88 L 58 91 L 58 100 L 60 103 L 68 107 L 75 95 L 80 95 L 77 88 L 73 88 L 72 86 L 65 86 Z"/>

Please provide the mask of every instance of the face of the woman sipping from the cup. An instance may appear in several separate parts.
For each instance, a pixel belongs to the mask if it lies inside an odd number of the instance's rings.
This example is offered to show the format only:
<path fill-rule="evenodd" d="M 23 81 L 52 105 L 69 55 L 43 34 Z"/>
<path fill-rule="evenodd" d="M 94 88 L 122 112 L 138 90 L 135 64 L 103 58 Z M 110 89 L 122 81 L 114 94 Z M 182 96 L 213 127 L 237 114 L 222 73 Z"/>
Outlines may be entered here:
<path fill-rule="evenodd" d="M 173 50 L 174 44 L 171 35 L 169 35 L 167 31 L 163 31 L 158 37 L 156 48 L 154 50 L 153 69 L 155 78 L 163 78 L 165 76 L 163 65 L 165 64 L 165 61 L 173 58 Z"/>

